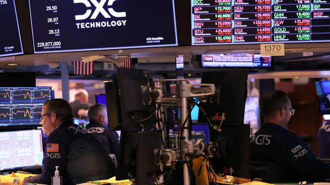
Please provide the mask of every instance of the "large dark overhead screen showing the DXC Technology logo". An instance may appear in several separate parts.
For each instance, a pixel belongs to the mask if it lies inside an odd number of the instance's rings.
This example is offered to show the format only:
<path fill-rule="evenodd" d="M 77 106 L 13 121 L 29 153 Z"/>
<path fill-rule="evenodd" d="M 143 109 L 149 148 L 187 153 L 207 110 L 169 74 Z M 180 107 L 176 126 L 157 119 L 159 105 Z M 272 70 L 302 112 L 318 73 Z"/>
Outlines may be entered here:
<path fill-rule="evenodd" d="M 29 0 L 35 53 L 177 45 L 174 1 Z"/>

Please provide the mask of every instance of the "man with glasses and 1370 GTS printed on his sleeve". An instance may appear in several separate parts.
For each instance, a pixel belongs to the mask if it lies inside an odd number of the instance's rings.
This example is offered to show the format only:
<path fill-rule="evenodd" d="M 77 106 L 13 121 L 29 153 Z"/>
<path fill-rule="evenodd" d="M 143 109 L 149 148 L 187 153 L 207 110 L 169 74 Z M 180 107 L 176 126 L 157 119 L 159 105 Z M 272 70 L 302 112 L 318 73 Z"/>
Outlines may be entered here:
<path fill-rule="evenodd" d="M 252 167 L 254 162 L 275 164 L 281 172 L 275 175 L 281 176 L 273 182 L 330 178 L 330 166 L 318 160 L 305 142 L 287 130 L 294 109 L 285 92 L 266 92 L 261 98 L 261 110 L 264 123 L 250 137 Z"/>

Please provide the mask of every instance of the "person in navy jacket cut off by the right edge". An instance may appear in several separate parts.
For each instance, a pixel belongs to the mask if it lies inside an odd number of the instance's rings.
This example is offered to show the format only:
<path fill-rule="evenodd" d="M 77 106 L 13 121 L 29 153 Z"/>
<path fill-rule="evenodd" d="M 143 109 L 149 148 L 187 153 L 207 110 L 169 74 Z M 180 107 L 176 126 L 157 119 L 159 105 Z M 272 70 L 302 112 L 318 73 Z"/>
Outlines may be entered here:
<path fill-rule="evenodd" d="M 321 125 L 317 132 L 318 157 L 330 159 L 330 121 Z"/>

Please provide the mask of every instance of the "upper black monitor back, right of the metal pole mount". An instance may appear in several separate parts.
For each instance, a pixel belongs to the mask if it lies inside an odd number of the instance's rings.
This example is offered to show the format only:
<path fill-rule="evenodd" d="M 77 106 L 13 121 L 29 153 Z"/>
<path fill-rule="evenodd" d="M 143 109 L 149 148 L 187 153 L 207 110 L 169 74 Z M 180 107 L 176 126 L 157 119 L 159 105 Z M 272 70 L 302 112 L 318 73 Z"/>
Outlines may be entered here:
<path fill-rule="evenodd" d="M 202 83 L 211 83 L 216 87 L 212 101 L 201 103 L 206 116 L 214 124 L 220 124 L 222 113 L 225 119 L 222 124 L 244 122 L 244 109 L 247 97 L 247 70 L 221 70 L 204 72 Z M 208 123 L 203 111 L 199 111 L 199 123 Z"/>

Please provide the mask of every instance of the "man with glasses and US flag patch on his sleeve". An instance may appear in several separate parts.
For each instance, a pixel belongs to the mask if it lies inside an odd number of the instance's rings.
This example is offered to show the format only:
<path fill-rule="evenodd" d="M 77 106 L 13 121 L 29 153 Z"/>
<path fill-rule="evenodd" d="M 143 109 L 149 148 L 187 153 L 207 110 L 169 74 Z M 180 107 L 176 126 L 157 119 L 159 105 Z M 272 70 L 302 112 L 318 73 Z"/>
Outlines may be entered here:
<path fill-rule="evenodd" d="M 67 101 L 46 101 L 39 118 L 44 133 L 48 135 L 42 174 L 25 177 L 24 183 L 51 184 L 55 166 L 59 166 L 63 184 L 77 184 L 113 176 L 115 166 L 107 152 L 96 138 L 73 124 L 72 109 Z"/>

